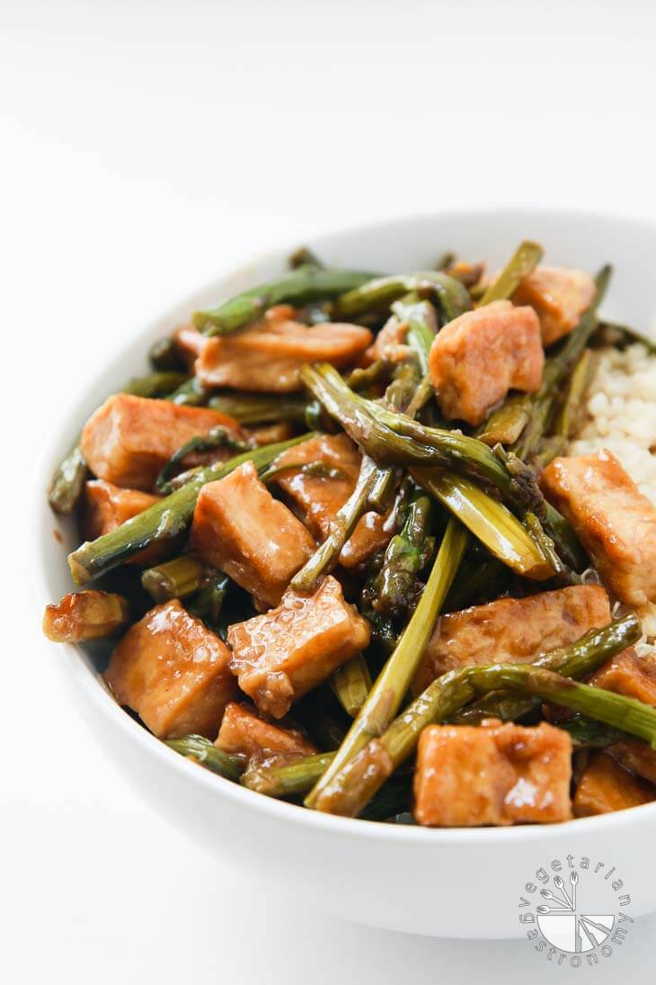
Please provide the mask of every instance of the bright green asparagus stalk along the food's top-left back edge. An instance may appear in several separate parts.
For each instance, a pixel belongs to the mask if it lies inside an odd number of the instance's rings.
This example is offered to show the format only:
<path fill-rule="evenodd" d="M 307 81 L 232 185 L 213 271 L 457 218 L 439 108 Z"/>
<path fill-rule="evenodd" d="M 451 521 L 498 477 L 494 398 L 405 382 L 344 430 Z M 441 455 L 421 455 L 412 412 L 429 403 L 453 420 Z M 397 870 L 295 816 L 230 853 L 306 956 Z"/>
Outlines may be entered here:
<path fill-rule="evenodd" d="M 306 263 L 277 281 L 251 288 L 216 307 L 197 311 L 194 314 L 194 324 L 209 336 L 236 332 L 249 322 L 261 318 L 274 304 L 306 304 L 313 300 L 343 295 L 344 292 L 366 284 L 374 276 L 376 275 L 359 270 L 317 268 L 315 264 Z"/>

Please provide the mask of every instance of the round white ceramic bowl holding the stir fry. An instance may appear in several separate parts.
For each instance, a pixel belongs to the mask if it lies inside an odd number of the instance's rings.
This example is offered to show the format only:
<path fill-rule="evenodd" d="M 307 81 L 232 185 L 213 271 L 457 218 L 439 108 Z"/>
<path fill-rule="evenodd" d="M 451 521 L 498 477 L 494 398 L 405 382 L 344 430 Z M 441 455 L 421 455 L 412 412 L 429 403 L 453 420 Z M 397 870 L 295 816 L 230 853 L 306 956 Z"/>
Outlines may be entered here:
<path fill-rule="evenodd" d="M 330 263 L 402 271 L 430 265 L 444 250 L 501 265 L 524 237 L 538 239 L 550 262 L 594 271 L 615 265 L 604 305 L 609 317 L 644 329 L 654 322 L 656 226 L 572 213 L 446 213 L 322 236 L 310 243 Z M 292 243 L 291 246 L 297 244 Z M 65 551 L 72 524 L 49 510 L 45 489 L 56 462 L 104 396 L 146 369 L 149 343 L 195 308 L 266 281 L 284 269 L 279 250 L 218 278 L 146 326 L 108 365 L 97 366 L 48 447 L 37 483 L 35 533 L 39 601 L 71 590 Z M 53 528 L 63 536 L 54 544 Z M 656 909 L 653 832 L 656 805 L 565 824 L 440 830 L 332 818 L 268 799 L 171 752 L 104 689 L 89 658 L 64 647 L 58 663 L 104 752 L 135 786 L 194 839 L 236 867 L 309 906 L 352 920 L 436 937 L 513 938 L 526 933 L 518 897 L 535 871 L 567 854 L 616 867 L 630 913 Z"/>

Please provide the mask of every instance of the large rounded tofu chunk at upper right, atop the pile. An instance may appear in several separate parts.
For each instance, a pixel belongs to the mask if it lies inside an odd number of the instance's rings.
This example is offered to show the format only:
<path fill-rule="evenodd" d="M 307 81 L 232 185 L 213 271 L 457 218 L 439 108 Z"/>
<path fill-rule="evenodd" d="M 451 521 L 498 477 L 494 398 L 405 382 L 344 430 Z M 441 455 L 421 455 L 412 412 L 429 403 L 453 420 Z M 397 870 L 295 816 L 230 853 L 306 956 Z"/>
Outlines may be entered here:
<path fill-rule="evenodd" d="M 539 390 L 544 359 L 533 308 L 493 301 L 449 322 L 428 362 L 443 415 L 477 426 L 508 390 Z"/>

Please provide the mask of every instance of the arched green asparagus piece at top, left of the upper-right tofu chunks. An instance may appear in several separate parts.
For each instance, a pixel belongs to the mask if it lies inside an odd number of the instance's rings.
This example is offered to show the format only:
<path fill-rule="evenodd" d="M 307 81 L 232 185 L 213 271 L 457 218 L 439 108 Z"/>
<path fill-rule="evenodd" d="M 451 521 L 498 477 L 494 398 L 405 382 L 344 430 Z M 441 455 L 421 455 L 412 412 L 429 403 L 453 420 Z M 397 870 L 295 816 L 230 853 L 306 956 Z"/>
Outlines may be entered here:
<path fill-rule="evenodd" d="M 441 271 L 379 277 L 362 283 L 334 301 L 339 318 L 356 318 L 366 311 L 385 309 L 403 295 L 435 297 L 445 321 L 457 318 L 471 307 L 469 293 L 459 281 Z"/>

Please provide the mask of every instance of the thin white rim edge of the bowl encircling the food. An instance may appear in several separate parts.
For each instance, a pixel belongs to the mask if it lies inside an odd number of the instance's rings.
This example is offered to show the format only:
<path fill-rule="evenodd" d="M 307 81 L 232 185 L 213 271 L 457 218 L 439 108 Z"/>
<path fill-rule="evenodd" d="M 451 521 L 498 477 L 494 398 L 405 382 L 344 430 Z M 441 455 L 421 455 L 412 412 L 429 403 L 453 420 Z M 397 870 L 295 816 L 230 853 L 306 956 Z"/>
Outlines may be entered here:
<path fill-rule="evenodd" d="M 490 206 L 474 208 L 443 208 L 430 213 L 418 213 L 413 215 L 398 214 L 378 220 L 376 222 L 359 222 L 347 226 L 334 226 L 322 230 L 313 231 L 307 236 L 307 240 L 314 247 L 321 251 L 322 243 L 335 236 L 353 236 L 358 232 L 383 232 L 390 228 L 406 227 L 413 224 L 436 222 L 448 219 L 449 222 L 462 220 L 471 222 L 476 217 L 485 216 L 486 219 L 498 216 L 500 220 L 508 221 L 512 219 L 532 218 L 534 220 L 549 220 L 555 222 L 565 222 L 572 220 L 575 222 L 598 222 L 601 225 L 613 224 L 624 226 L 627 229 L 639 228 L 644 231 L 651 231 L 656 236 L 656 222 L 644 217 L 632 217 L 622 213 L 600 213 L 596 210 L 584 209 L 544 209 L 532 208 L 530 206 Z M 211 281 L 200 286 L 197 290 L 189 293 L 183 298 L 174 300 L 160 306 L 156 312 L 146 319 L 140 319 L 140 324 L 135 327 L 133 333 L 128 333 L 126 341 L 111 357 L 112 362 L 130 361 L 134 358 L 135 346 L 140 340 L 149 335 L 156 325 L 163 320 L 173 319 L 177 316 L 180 308 L 191 309 L 198 296 L 207 295 L 211 291 L 220 294 L 219 285 L 232 277 L 246 276 L 249 270 L 259 263 L 271 259 L 282 259 L 290 253 L 295 245 L 289 245 L 283 237 L 270 242 L 268 247 L 251 254 L 246 258 L 237 259 L 234 263 L 225 264 L 218 268 Z M 77 392 L 75 397 L 71 397 L 63 407 L 62 413 L 57 414 L 55 420 L 48 428 L 47 439 L 38 456 L 37 464 L 33 472 L 32 482 L 32 501 L 30 503 L 30 516 L 34 517 L 35 522 L 31 524 L 32 546 L 30 556 L 33 559 L 31 565 L 32 587 L 37 607 L 42 607 L 50 602 L 47 581 L 45 576 L 45 563 L 43 558 L 46 544 L 40 536 L 42 524 L 36 522 L 37 518 L 47 517 L 51 522 L 55 520 L 54 514 L 50 512 L 45 496 L 53 469 L 53 443 L 62 443 L 64 432 L 75 431 L 76 426 L 73 421 L 76 408 L 87 402 L 92 391 L 97 388 L 101 370 L 90 372 L 87 384 Z M 358 839 L 374 839 L 391 841 L 408 845 L 433 845 L 435 847 L 447 845 L 467 845 L 470 847 L 501 847 L 502 845 L 517 845 L 527 842 L 540 841 L 547 844 L 559 841 L 567 831 L 571 831 L 572 821 L 575 822 L 575 832 L 577 835 L 585 836 L 588 832 L 602 833 L 611 828 L 622 831 L 627 827 L 634 826 L 636 823 L 652 824 L 656 817 L 656 802 L 644 804 L 639 807 L 629 808 L 624 811 L 614 812 L 608 815 L 599 815 L 590 818 L 575 818 L 570 821 L 562 821 L 553 824 L 516 824 L 508 827 L 423 827 L 421 825 L 410 824 L 389 824 L 381 821 L 362 821 L 360 819 L 342 818 L 328 815 L 319 811 L 308 811 L 295 804 L 267 797 L 264 794 L 249 790 L 238 783 L 212 773 L 205 767 L 188 760 L 186 757 L 175 753 L 167 747 L 161 740 L 152 735 L 149 730 L 132 718 L 114 700 L 113 696 L 103 686 L 97 674 L 93 674 L 86 662 L 81 659 L 82 648 L 75 643 L 48 644 L 43 640 L 43 645 L 56 647 L 60 653 L 63 651 L 67 670 L 76 686 L 83 692 L 83 699 L 91 702 L 98 714 L 103 715 L 113 725 L 126 734 L 130 742 L 139 743 L 146 757 L 158 759 L 159 762 L 168 769 L 177 771 L 179 777 L 184 782 L 198 784 L 207 791 L 209 797 L 215 798 L 220 802 L 222 798 L 232 800 L 238 808 L 244 810 L 254 810 L 259 812 L 263 819 L 287 822 L 299 828 L 310 828 L 314 831 L 324 831 L 334 835 L 350 835 Z"/>

